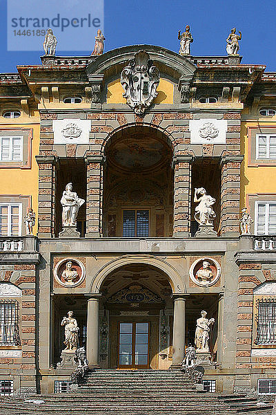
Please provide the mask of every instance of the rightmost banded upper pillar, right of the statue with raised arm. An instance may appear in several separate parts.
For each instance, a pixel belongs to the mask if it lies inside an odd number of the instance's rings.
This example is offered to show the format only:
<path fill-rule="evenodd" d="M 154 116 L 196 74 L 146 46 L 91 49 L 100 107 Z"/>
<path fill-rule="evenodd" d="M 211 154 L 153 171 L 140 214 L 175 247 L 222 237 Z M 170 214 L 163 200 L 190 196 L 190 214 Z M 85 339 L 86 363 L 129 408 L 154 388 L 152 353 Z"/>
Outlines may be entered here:
<path fill-rule="evenodd" d="M 241 164 L 244 156 L 221 158 L 221 237 L 239 236 Z"/>

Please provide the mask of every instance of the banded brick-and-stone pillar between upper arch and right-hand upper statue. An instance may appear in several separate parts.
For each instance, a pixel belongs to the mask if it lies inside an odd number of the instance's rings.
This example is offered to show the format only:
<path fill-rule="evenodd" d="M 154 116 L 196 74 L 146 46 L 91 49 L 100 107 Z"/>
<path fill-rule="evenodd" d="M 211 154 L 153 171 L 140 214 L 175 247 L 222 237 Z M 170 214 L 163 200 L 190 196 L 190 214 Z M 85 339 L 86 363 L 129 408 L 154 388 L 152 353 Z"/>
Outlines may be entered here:
<path fill-rule="evenodd" d="M 193 156 L 175 156 L 173 236 L 188 237 L 190 232 L 191 167 Z"/>

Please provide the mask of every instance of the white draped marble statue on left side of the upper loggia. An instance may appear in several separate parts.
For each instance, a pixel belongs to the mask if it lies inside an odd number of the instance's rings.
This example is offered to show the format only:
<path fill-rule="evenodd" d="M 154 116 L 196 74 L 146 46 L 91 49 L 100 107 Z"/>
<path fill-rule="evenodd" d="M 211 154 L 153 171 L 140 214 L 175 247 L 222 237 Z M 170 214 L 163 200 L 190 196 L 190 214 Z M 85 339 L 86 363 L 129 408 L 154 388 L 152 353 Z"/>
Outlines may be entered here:
<path fill-rule="evenodd" d="M 72 188 L 72 183 L 68 183 L 61 197 L 63 227 L 77 226 L 79 208 L 85 202 L 76 192 L 72 192 Z"/>

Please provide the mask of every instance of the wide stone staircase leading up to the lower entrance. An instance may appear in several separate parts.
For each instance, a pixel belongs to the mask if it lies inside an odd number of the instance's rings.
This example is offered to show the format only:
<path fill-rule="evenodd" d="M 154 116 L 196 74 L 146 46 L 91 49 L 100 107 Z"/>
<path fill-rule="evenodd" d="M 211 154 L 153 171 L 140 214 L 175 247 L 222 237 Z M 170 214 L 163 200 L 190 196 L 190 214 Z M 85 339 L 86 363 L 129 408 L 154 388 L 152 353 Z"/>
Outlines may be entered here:
<path fill-rule="evenodd" d="M 26 402 L 29 400 L 29 402 Z M 33 402 L 30 402 L 33 400 Z M 35 402 L 40 400 L 39 402 Z M 270 415 L 272 405 L 258 407 L 244 395 L 198 393 L 179 370 L 88 371 L 68 394 L 3 398 L 3 415 Z"/>

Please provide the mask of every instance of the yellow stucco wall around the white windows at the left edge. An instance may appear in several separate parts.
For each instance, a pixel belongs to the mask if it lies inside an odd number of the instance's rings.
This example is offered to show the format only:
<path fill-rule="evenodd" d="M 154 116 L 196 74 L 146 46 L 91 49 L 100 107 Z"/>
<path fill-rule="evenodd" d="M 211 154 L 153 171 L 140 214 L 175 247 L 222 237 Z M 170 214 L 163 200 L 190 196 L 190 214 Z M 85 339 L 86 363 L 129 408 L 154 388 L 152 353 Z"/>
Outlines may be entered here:
<path fill-rule="evenodd" d="M 0 194 L 1 195 L 22 195 L 32 197 L 32 209 L 37 218 L 38 209 L 38 165 L 35 156 L 39 154 L 39 113 L 34 117 L 20 117 L 15 120 L 0 120 L 0 129 L 32 129 L 31 140 L 31 163 L 30 168 L 0 167 Z M 22 212 L 24 217 L 26 212 Z M 33 230 L 37 234 L 37 220 Z"/>

